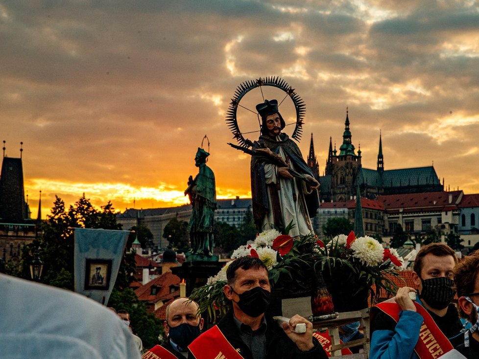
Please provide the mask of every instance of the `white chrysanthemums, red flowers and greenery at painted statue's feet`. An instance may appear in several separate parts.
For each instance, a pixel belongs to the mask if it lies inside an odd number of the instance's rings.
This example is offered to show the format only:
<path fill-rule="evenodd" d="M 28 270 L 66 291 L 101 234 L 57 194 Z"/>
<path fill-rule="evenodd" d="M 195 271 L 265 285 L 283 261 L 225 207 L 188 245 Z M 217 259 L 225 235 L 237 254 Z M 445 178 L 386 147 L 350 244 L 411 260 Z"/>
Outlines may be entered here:
<path fill-rule="evenodd" d="M 236 249 L 231 259 L 243 256 L 260 258 L 268 269 L 272 288 L 290 294 L 310 293 L 313 274 L 322 272 L 333 301 L 343 295 L 335 291 L 341 288 L 350 296 L 362 295 L 366 301 L 370 296 L 372 302 L 381 289 L 394 293 L 397 287 L 392 277 L 399 276 L 397 271 L 403 269 L 404 263 L 394 248 L 384 248 L 372 237 L 356 238 L 354 232 L 322 241 L 312 235 L 294 239 L 271 229 L 257 235 L 253 244 Z M 190 296 L 199 303 L 199 310 L 207 311 L 212 320 L 229 309 L 223 287 L 226 269 L 231 263 L 227 262 L 216 276 L 210 277 L 205 286 L 194 289 Z"/>

